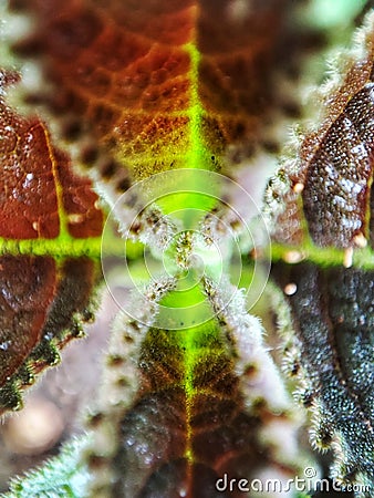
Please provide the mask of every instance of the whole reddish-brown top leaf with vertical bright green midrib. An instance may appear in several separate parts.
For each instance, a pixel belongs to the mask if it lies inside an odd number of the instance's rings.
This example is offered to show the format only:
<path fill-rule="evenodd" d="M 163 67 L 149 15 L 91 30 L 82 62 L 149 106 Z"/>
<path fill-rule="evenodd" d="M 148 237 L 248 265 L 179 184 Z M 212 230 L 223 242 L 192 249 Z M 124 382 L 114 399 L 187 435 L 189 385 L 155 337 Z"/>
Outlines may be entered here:
<path fill-rule="evenodd" d="M 212 0 L 14 3 L 38 23 L 19 50 L 40 52 L 59 89 L 42 100 L 66 116 L 72 137 L 84 116 L 95 143 L 136 178 L 219 168 L 227 144 L 257 137 L 271 107 L 287 0 L 256 0 L 242 12 Z M 115 164 L 97 164 L 121 190 Z"/>

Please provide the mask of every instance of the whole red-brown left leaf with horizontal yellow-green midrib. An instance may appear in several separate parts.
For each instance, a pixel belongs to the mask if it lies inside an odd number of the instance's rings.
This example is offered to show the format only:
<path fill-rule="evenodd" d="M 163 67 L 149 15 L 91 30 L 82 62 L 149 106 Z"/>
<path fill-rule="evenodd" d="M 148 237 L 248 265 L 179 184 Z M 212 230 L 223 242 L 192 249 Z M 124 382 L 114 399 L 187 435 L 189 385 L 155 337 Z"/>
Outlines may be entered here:
<path fill-rule="evenodd" d="M 17 80 L 0 73 L 2 86 Z M 40 118 L 17 114 L 2 96 L 0 137 L 2 413 L 21 407 L 20 391 L 56 364 L 59 350 L 82 334 L 80 321 L 92 319 L 91 245 L 100 248 L 103 214 L 90 180 L 73 174 Z"/>

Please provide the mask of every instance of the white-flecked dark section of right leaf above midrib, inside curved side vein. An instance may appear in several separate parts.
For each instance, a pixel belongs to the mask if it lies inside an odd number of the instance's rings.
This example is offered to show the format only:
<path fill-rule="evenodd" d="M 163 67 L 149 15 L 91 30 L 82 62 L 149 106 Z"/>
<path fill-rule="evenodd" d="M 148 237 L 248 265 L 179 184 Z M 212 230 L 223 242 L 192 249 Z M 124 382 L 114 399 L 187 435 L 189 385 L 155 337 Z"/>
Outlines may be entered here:
<path fill-rule="evenodd" d="M 308 166 L 302 198 L 309 230 L 319 246 L 346 247 L 355 237 L 368 236 L 373 90 L 370 79 L 351 97 Z"/>

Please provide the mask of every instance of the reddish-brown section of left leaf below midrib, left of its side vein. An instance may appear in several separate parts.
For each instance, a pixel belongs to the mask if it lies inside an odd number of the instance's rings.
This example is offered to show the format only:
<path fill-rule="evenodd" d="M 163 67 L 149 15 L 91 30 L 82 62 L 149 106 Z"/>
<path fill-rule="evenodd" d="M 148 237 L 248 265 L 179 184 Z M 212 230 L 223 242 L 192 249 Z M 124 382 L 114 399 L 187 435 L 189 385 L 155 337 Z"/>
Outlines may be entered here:
<path fill-rule="evenodd" d="M 0 387 L 41 340 L 55 286 L 52 258 L 0 258 Z"/>

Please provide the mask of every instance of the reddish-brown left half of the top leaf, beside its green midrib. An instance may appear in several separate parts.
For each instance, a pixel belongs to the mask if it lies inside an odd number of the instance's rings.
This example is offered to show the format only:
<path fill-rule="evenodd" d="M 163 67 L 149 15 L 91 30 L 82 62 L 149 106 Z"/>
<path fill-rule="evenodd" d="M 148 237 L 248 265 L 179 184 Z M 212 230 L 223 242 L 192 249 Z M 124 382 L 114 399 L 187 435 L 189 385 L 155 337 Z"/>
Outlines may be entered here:
<path fill-rule="evenodd" d="M 50 105 L 70 116 L 67 135 L 70 123 L 84 116 L 95 141 L 112 139 L 114 148 L 121 143 L 128 156 L 148 151 L 155 136 L 186 124 L 186 118 L 167 114 L 188 106 L 190 63 L 180 45 L 191 38 L 191 4 L 58 1 L 51 9 L 43 1 L 27 2 L 39 29 L 24 50 L 42 52 L 59 86 Z M 105 169 L 103 175 L 107 177 Z"/>

